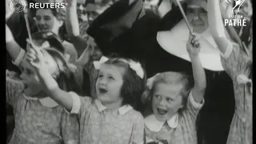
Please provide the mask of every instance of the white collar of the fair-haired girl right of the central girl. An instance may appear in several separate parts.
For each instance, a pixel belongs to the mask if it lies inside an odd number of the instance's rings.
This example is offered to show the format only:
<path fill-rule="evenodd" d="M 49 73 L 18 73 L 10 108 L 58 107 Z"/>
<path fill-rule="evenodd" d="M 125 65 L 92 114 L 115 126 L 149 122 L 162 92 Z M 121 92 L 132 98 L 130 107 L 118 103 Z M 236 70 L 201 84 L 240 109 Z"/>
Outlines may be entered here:
<path fill-rule="evenodd" d="M 151 114 L 150 116 L 146 117 L 144 119 L 146 127 L 154 132 L 158 132 L 162 129 L 162 126 L 165 124 L 165 122 L 158 121 L 157 118 L 155 118 L 154 114 Z M 178 126 L 178 114 L 174 114 L 173 117 L 171 117 L 168 121 L 168 126 L 170 128 L 177 128 Z"/>

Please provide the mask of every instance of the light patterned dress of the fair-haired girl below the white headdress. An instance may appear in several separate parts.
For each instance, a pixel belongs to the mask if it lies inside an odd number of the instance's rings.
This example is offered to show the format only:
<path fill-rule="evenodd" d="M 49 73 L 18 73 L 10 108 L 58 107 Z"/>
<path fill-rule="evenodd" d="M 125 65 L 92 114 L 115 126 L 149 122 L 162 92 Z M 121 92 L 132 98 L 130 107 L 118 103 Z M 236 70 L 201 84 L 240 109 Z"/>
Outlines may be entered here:
<path fill-rule="evenodd" d="M 146 143 L 198 144 L 196 118 L 204 104 L 197 103 L 190 92 L 186 110 L 174 115 L 168 122 L 158 122 L 150 115 L 145 118 Z"/>

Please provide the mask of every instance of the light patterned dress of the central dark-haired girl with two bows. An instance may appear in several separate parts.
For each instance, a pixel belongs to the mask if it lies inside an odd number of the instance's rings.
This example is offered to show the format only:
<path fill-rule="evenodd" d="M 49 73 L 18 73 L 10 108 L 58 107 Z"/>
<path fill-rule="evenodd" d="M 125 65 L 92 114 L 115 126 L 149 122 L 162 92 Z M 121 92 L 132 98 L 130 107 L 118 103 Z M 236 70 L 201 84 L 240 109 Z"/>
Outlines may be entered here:
<path fill-rule="evenodd" d="M 143 143 L 143 117 L 132 106 L 122 106 L 114 113 L 97 99 L 79 97 L 73 92 L 70 95 L 70 113 L 77 114 L 80 122 L 80 144 Z"/>

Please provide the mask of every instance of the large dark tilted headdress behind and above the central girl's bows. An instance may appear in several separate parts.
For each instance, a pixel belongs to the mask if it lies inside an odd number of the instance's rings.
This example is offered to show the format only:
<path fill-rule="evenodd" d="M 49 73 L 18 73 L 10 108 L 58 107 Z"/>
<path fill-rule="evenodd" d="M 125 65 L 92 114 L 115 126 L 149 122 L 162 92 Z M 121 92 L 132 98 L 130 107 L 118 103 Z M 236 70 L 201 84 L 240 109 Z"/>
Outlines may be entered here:
<path fill-rule="evenodd" d="M 115 2 L 92 22 L 87 34 L 92 36 L 95 42 L 105 43 L 129 30 L 138 18 L 143 6 L 142 0 L 130 1 Z"/>

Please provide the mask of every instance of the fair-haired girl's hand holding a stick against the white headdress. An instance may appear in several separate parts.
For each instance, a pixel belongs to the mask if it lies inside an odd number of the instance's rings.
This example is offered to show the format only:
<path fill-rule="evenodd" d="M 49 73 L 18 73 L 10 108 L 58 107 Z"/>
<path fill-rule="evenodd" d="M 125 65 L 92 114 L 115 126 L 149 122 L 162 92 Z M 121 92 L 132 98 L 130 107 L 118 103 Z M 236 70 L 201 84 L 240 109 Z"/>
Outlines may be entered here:
<path fill-rule="evenodd" d="M 186 50 L 191 56 L 198 56 L 200 51 L 200 44 L 198 42 L 197 34 L 190 34 L 189 41 L 186 43 Z"/>

